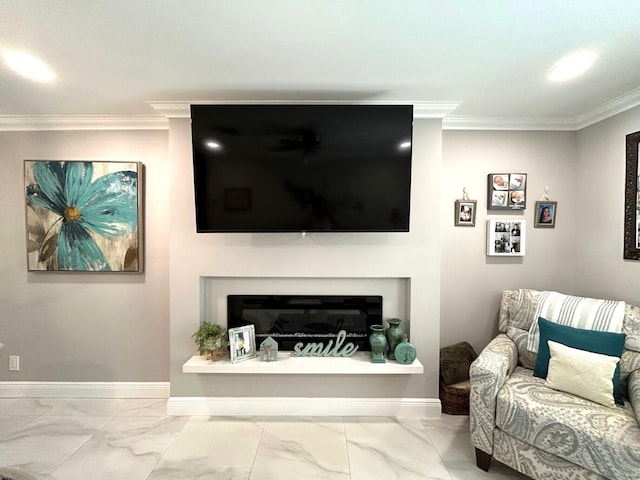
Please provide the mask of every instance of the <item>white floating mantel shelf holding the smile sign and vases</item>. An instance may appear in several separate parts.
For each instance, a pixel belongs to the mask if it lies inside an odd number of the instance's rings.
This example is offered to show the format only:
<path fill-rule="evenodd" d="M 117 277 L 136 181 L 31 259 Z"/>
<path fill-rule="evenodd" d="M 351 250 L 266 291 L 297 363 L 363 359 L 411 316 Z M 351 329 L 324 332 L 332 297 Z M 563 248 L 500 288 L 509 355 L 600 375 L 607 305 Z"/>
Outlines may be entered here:
<path fill-rule="evenodd" d="M 191 357 L 182 365 L 183 373 L 276 374 L 276 375 L 419 375 L 424 367 L 418 359 L 410 365 L 397 362 L 371 363 L 368 352 L 351 357 L 292 357 L 278 352 L 275 362 L 261 362 L 258 357 L 238 363 L 229 359 L 211 362 L 201 356 Z"/>

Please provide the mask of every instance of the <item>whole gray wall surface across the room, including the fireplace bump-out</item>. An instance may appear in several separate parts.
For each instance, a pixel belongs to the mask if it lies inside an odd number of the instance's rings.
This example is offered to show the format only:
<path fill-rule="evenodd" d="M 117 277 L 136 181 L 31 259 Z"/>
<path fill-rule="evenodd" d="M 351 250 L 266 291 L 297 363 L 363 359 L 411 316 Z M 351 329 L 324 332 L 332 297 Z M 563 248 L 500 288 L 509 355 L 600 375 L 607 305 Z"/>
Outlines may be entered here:
<path fill-rule="evenodd" d="M 506 288 L 640 304 L 640 262 L 622 259 L 624 137 L 640 130 L 640 108 L 577 133 L 441 132 L 439 122 L 420 122 L 412 234 L 311 236 L 306 243 L 286 235 L 195 235 L 187 121 L 172 120 L 169 132 L 0 133 L 0 380 L 171 379 L 172 394 L 215 396 L 213 382 L 181 373 L 194 353 L 200 278 L 209 276 L 407 279 L 425 375 L 415 385 L 394 379 L 382 388 L 343 379 L 330 395 L 437 396 L 439 345 L 484 347 Z M 27 273 L 24 159 L 143 162 L 146 272 Z M 529 174 L 529 202 L 549 185 L 559 202 L 555 229 L 533 228 L 533 203 L 513 215 L 487 211 L 486 176 L 498 170 Z M 478 200 L 475 228 L 453 226 L 463 187 Z M 529 223 L 527 254 L 489 258 L 485 221 L 507 216 Z M 20 372 L 8 371 L 8 355 L 20 355 Z M 307 385 L 305 393 L 316 389 Z M 274 387 L 265 395 L 281 393 Z"/>

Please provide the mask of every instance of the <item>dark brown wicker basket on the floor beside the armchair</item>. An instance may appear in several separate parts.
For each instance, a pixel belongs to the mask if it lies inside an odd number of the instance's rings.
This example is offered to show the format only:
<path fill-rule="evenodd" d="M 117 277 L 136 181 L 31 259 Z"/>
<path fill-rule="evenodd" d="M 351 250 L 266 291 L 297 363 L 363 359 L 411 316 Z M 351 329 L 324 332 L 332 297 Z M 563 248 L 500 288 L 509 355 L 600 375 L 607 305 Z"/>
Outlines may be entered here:
<path fill-rule="evenodd" d="M 469 367 L 478 357 L 469 343 L 440 349 L 440 403 L 442 413 L 469 415 Z"/>

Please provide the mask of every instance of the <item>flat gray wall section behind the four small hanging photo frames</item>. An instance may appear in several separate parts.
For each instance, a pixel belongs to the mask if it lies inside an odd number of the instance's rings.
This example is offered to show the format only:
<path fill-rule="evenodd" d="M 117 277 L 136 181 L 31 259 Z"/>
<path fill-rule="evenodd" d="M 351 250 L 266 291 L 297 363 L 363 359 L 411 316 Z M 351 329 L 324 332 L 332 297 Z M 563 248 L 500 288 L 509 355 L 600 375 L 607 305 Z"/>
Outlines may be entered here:
<path fill-rule="evenodd" d="M 483 348 L 497 332 L 501 292 L 536 288 L 571 293 L 576 255 L 575 132 L 445 131 L 442 197 L 442 346 L 468 341 Z M 524 211 L 487 210 L 487 175 L 528 174 Z M 535 201 L 545 185 L 558 201 L 556 228 L 534 228 Z M 476 226 L 454 226 L 454 201 L 467 187 L 478 201 Z M 486 221 L 523 219 L 524 257 L 487 257 Z"/>

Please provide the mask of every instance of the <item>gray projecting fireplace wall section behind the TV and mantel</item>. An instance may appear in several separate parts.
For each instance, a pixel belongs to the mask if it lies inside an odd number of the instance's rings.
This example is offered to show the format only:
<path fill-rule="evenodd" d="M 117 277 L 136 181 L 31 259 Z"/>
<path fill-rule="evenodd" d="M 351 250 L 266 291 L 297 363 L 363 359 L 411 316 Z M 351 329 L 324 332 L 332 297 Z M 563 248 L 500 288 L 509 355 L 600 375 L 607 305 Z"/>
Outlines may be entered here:
<path fill-rule="evenodd" d="M 411 232 L 300 234 L 197 234 L 193 213 L 191 135 L 188 120 L 170 121 L 171 158 L 171 396 L 257 396 L 437 398 L 440 338 L 440 120 L 415 119 L 413 127 Z M 186 213 L 185 213 L 186 212 Z M 411 342 L 425 365 L 424 375 L 360 375 L 345 378 L 290 375 L 273 379 L 252 375 L 194 375 L 182 364 L 195 354 L 190 335 L 202 318 L 204 279 L 225 277 L 298 279 L 298 288 L 332 280 L 366 285 L 376 278 L 408 279 Z M 344 283 L 342 282 L 344 280 Z M 349 288 L 351 288 L 349 286 Z M 250 292 L 261 293 L 261 292 Z M 281 292 L 298 293 L 298 292 Z M 313 293 L 306 290 L 305 293 Z M 330 293 L 327 291 L 319 293 Z M 369 292 L 372 294 L 375 292 Z M 383 312 L 384 313 L 384 312 Z M 207 318 L 225 323 L 226 319 Z M 366 378 L 365 378 L 366 377 Z"/>

